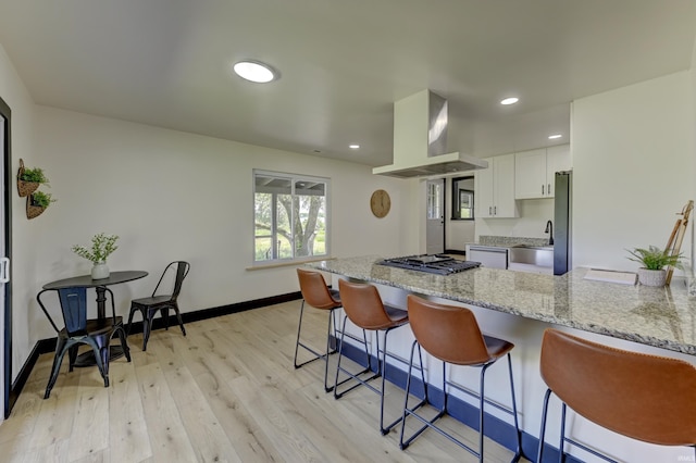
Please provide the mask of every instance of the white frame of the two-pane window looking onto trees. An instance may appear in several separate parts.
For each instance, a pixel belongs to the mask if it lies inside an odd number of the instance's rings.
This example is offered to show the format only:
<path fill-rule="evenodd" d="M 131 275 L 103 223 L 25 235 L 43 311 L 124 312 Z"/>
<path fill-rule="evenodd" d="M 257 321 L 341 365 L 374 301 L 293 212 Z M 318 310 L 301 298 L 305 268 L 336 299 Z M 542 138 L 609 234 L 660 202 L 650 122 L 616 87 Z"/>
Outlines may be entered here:
<path fill-rule="evenodd" d="M 257 192 L 262 192 L 262 191 L 257 191 L 257 177 L 258 176 L 266 176 L 266 177 L 273 177 L 273 178 L 278 178 L 278 179 L 287 179 L 290 183 L 290 197 L 291 197 L 291 201 L 295 202 L 299 199 L 300 196 L 302 195 L 297 195 L 296 193 L 296 185 L 297 183 L 301 183 L 301 182 L 308 182 L 308 183 L 321 183 L 324 184 L 324 253 L 322 254 L 313 254 L 313 255 L 301 255 L 301 256 L 297 256 L 296 255 L 296 248 L 295 248 L 295 240 L 296 240 L 296 234 L 295 234 L 295 229 L 291 229 L 291 250 L 293 250 L 293 256 L 290 258 L 276 258 L 276 259 L 269 259 L 269 260 L 262 260 L 262 261 L 257 261 L 257 253 L 256 253 L 256 247 L 257 247 L 257 221 L 256 221 L 256 205 L 257 205 Z M 324 260 L 324 259 L 328 259 L 331 256 L 331 178 L 330 177 L 319 177 L 319 176 L 313 176 L 313 175 L 304 175 L 304 174 L 293 174 L 293 173 L 287 173 L 287 172 L 276 172 L 276 171 L 265 171 L 265 170 L 258 170 L 254 168 L 252 170 L 252 175 L 251 175 L 251 201 L 252 201 L 252 208 L 251 208 L 251 263 L 253 267 L 263 267 L 263 266 L 274 266 L 274 265 L 289 265 L 289 264 L 294 264 L 294 263 L 302 263 L 302 262 L 308 262 L 308 261 L 315 261 L 315 260 Z M 276 200 L 272 201 L 273 204 L 276 203 Z M 275 208 L 274 208 L 275 209 Z M 295 210 L 295 208 L 293 208 L 293 210 Z M 272 230 L 270 232 L 271 235 L 275 234 L 275 230 L 277 229 L 277 215 L 275 213 L 272 214 L 273 220 L 272 220 Z M 290 226 L 294 227 L 294 220 L 293 217 L 288 217 L 288 221 L 290 222 Z"/>

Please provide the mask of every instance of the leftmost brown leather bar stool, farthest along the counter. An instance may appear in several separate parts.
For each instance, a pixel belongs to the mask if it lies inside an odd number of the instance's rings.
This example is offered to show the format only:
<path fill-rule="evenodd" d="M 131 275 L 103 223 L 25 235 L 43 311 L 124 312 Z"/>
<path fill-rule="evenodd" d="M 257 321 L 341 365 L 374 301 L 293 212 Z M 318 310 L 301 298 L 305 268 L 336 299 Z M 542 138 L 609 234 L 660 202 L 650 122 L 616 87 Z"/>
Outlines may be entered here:
<path fill-rule="evenodd" d="M 335 289 L 328 289 L 324 277 L 319 272 L 311 272 L 298 268 L 297 277 L 300 281 L 300 291 L 302 292 L 302 304 L 300 305 L 300 322 L 297 326 L 297 342 L 295 342 L 295 367 L 299 368 L 315 360 L 323 360 L 324 365 L 324 390 L 330 392 L 334 387 L 328 386 L 326 383 L 328 376 L 328 355 L 335 353 L 336 350 L 332 349 L 332 326 L 334 327 L 334 338 L 336 337 L 336 316 L 334 311 L 341 306 L 340 297 Z M 302 329 L 302 314 L 304 313 L 304 303 L 313 306 L 314 309 L 328 311 L 328 328 L 326 330 L 326 353 L 320 353 L 312 349 L 310 346 L 303 343 L 300 340 L 300 330 Z M 297 352 L 299 348 L 311 352 L 314 356 L 302 363 L 297 363 Z"/>

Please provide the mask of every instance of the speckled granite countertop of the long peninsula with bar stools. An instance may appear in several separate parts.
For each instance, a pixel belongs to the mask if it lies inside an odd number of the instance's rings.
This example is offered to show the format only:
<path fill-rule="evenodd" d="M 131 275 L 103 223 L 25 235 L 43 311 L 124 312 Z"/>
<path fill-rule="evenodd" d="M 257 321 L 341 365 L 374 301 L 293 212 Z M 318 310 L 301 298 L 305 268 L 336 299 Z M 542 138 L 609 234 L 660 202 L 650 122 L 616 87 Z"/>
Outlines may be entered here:
<path fill-rule="evenodd" d="M 308 264 L 350 278 L 696 355 L 696 298 L 683 280 L 651 288 L 562 276 L 474 268 L 433 275 L 376 264 L 366 255 Z"/>

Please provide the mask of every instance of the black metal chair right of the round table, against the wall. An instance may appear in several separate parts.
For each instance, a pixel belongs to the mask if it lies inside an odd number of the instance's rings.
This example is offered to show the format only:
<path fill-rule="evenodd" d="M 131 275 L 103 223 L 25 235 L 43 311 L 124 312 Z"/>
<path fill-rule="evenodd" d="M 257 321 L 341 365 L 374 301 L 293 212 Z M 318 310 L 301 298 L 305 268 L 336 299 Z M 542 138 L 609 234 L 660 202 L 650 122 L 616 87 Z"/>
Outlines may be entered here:
<path fill-rule="evenodd" d="M 170 272 L 170 270 L 172 272 Z M 178 304 L 176 299 L 178 298 L 179 292 L 182 291 L 182 284 L 184 283 L 184 278 L 188 275 L 188 271 L 190 270 L 190 264 L 184 261 L 174 261 L 171 262 L 164 272 L 162 272 L 162 276 L 154 287 L 154 291 L 152 291 L 152 296 L 149 298 L 140 298 L 134 299 L 130 301 L 130 313 L 128 314 L 128 335 L 130 335 L 130 329 L 133 327 L 133 315 L 136 312 L 140 312 L 142 315 L 142 350 L 147 350 L 148 339 L 150 339 L 150 331 L 152 330 L 152 318 L 159 311 L 164 318 L 165 329 L 170 328 L 170 311 L 173 310 L 176 314 L 176 320 L 178 321 L 178 326 L 182 328 L 182 333 L 186 336 L 186 328 L 184 328 L 184 322 L 182 321 L 182 314 L 178 311 Z M 157 291 L 160 289 L 160 285 L 164 279 L 164 276 L 174 273 L 174 289 L 169 295 L 157 295 Z"/>

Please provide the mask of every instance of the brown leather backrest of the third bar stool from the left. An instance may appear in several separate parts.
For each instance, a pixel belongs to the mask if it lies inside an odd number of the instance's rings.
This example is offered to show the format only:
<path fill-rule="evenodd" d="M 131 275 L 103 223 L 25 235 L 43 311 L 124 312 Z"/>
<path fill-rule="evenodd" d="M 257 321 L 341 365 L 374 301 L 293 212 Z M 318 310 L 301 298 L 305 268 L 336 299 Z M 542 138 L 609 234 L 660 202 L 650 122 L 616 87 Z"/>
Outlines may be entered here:
<path fill-rule="evenodd" d="M 458 365 L 480 365 L 490 361 L 486 342 L 473 312 L 409 295 L 411 329 L 430 354 Z"/>

